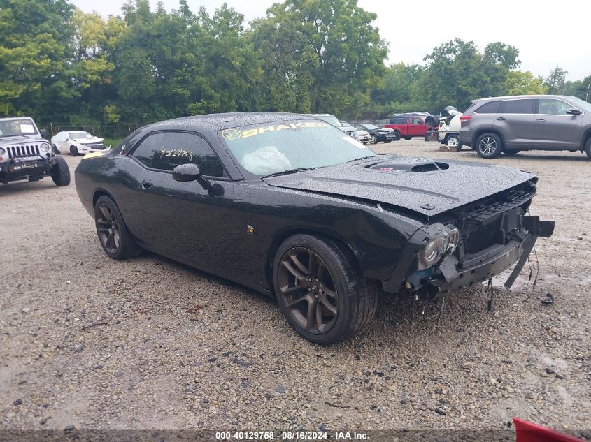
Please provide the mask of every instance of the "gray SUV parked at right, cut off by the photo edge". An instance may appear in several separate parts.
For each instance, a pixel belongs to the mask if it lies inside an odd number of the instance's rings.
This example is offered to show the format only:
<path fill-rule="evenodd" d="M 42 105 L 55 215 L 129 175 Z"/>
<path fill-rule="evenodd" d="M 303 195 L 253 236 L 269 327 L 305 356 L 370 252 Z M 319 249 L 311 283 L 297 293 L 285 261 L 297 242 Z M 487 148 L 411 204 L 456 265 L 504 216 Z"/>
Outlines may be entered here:
<path fill-rule="evenodd" d="M 483 158 L 522 150 L 586 152 L 591 159 L 591 103 L 574 96 L 480 98 L 460 117 L 460 142 Z"/>

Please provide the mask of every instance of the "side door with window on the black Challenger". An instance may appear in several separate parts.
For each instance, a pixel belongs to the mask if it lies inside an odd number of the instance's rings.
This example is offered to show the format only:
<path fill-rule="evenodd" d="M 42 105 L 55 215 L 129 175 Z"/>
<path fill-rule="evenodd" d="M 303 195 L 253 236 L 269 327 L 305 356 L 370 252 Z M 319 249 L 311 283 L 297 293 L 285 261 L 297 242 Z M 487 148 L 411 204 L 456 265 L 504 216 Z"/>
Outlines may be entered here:
<path fill-rule="evenodd" d="M 136 189 L 127 204 L 129 228 L 150 249 L 214 273 L 232 268 L 238 230 L 233 216 L 234 182 L 208 142 L 197 133 L 151 133 L 129 154 Z M 214 186 L 177 182 L 172 170 L 195 163 Z M 220 271 L 218 271 L 220 270 Z"/>

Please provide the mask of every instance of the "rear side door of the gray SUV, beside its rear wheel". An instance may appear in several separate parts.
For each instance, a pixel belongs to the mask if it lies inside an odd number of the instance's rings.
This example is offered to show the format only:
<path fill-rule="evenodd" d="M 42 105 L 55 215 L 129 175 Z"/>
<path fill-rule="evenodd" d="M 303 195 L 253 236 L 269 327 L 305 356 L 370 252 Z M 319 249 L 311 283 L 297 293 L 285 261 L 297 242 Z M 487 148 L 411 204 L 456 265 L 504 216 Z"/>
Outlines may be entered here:
<path fill-rule="evenodd" d="M 529 149 L 534 138 L 535 98 L 503 100 L 494 117 L 494 126 L 503 137 L 505 147 Z"/>

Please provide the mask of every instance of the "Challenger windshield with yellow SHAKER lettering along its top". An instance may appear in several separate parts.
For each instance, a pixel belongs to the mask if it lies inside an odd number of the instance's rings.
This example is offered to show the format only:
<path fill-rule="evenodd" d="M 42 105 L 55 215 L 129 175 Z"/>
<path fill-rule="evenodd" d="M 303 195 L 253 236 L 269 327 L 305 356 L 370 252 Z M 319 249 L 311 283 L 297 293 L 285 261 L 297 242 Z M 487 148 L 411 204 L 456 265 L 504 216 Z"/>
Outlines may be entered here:
<path fill-rule="evenodd" d="M 259 177 L 376 155 L 359 141 L 318 120 L 239 126 L 220 131 L 220 138 L 236 161 Z"/>

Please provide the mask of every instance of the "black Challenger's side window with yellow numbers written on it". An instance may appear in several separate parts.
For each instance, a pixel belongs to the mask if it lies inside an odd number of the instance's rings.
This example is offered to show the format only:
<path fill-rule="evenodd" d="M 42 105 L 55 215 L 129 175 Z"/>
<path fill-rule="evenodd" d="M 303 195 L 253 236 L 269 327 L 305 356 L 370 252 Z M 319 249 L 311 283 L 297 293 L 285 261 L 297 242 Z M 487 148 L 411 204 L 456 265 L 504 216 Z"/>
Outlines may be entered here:
<path fill-rule="evenodd" d="M 145 138 L 131 153 L 148 168 L 171 172 L 177 165 L 194 163 L 208 177 L 227 177 L 222 162 L 199 135 L 162 132 Z"/>

